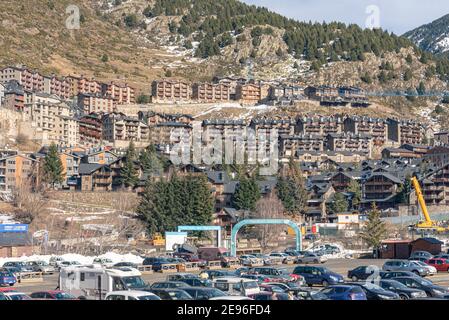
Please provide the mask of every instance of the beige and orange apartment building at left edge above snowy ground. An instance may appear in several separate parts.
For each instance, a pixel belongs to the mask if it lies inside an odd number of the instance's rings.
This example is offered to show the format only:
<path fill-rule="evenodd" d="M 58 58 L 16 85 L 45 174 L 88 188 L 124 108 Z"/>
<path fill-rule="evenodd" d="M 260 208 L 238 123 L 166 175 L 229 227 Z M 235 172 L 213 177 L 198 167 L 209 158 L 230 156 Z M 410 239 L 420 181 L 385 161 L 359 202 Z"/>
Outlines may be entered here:
<path fill-rule="evenodd" d="M 12 192 L 22 183 L 35 183 L 37 161 L 28 156 L 15 154 L 0 158 L 0 192 Z"/>

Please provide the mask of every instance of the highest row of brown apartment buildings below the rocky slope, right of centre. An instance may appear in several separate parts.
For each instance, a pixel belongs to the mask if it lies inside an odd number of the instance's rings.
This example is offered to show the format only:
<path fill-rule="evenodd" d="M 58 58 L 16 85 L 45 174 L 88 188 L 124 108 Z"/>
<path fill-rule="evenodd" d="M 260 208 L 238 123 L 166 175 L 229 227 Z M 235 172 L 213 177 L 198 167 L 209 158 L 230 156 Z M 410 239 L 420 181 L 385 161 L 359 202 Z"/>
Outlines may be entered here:
<path fill-rule="evenodd" d="M 236 101 L 289 105 L 305 99 L 322 105 L 367 107 L 366 92 L 356 87 L 304 86 L 290 82 L 263 82 L 246 78 L 214 78 L 213 82 L 155 80 L 151 86 L 154 103 L 217 103 Z"/>

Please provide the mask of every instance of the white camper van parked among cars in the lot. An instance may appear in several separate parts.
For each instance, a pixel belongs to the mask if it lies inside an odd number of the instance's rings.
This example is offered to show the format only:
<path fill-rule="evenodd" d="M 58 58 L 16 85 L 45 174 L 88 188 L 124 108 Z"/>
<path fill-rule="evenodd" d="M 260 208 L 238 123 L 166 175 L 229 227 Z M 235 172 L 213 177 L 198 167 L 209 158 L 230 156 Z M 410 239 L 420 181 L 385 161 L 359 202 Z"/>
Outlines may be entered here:
<path fill-rule="evenodd" d="M 113 291 L 141 290 L 147 286 L 134 268 L 67 267 L 59 274 L 59 289 L 80 298 L 104 300 Z"/>

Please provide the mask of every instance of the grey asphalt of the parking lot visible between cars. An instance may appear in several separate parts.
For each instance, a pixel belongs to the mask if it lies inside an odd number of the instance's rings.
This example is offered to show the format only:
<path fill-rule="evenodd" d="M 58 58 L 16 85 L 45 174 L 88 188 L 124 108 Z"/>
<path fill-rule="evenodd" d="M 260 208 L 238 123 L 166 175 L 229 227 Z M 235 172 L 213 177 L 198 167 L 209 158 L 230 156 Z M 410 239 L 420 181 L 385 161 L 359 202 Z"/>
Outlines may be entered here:
<path fill-rule="evenodd" d="M 378 267 L 382 267 L 385 260 L 369 260 L 369 259 L 333 259 L 327 261 L 324 266 L 329 268 L 330 270 L 337 272 L 346 277 L 348 270 L 354 269 L 357 266 L 361 265 L 375 265 Z M 294 269 L 294 265 L 284 265 L 283 267 L 288 268 L 289 270 Z M 167 277 L 167 274 L 154 273 L 150 275 L 143 275 L 142 278 L 144 281 L 149 282 L 150 284 L 157 281 L 164 281 Z M 427 278 L 434 282 L 435 284 L 449 287 L 449 273 L 441 272 L 435 276 Z M 54 275 L 46 275 L 44 276 L 44 281 L 40 283 L 21 283 L 17 284 L 15 288 L 25 293 L 31 293 L 40 290 L 54 290 L 58 285 L 58 274 Z"/>

